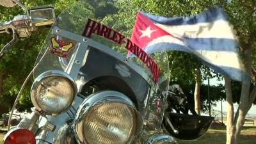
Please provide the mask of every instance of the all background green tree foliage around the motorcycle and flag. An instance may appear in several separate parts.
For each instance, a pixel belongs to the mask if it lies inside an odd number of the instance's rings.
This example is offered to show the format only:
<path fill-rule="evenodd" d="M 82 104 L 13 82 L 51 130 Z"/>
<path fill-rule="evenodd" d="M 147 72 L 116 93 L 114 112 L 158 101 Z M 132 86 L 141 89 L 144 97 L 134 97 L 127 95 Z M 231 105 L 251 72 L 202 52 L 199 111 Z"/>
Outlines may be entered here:
<path fill-rule="evenodd" d="M 56 14 L 59 15 L 65 8 L 68 8 L 70 4 L 76 1 L 77 0 L 22 0 L 22 3 L 29 8 L 42 4 L 53 4 Z M 246 47 L 249 44 L 253 45 L 253 48 L 256 44 L 256 3 L 253 0 L 86 0 L 85 2 L 91 5 L 88 6 L 86 15 L 95 15 L 93 16 L 95 20 L 121 31 L 127 38 L 131 36 L 136 15 L 139 10 L 154 15 L 163 15 L 165 17 L 179 17 L 196 15 L 205 10 L 205 8 L 220 4 L 225 9 L 225 12 L 227 12 L 231 24 L 234 25 L 234 29 L 237 31 L 241 44 L 241 52 L 246 52 Z M 81 9 L 82 7 L 83 6 L 77 7 L 74 13 L 77 13 L 77 15 L 83 13 L 84 10 Z M 11 20 L 15 15 L 22 13 L 19 6 L 13 8 L 0 6 L 0 21 Z M 77 18 L 78 17 L 71 17 L 70 21 L 73 22 L 73 30 L 78 33 L 80 27 L 76 26 L 83 26 L 86 17 L 84 17 L 83 20 Z M 63 27 L 65 27 L 65 24 L 63 24 Z M 33 33 L 30 38 L 21 39 L 18 44 L 13 46 L 12 51 L 0 61 L 0 73 L 4 74 L 4 85 L 2 86 L 4 92 L 1 93 L 1 104 L 5 104 L 9 108 L 12 106 L 20 85 L 35 63 L 36 55 L 41 48 L 40 42 L 44 40 L 48 30 L 49 28 L 40 28 Z M 0 47 L 3 47 L 4 44 L 11 39 L 12 37 L 10 35 L 0 34 Z M 198 72 L 202 73 L 201 81 L 207 79 L 207 77 L 218 77 L 218 79 L 221 79 L 220 74 L 202 65 L 200 60 L 191 54 L 172 51 L 168 52 L 168 56 L 170 60 L 171 81 L 179 81 L 180 84 L 184 85 L 182 88 L 186 87 L 184 89 L 193 90 L 196 81 L 195 74 L 198 74 Z M 254 49 L 252 63 L 253 67 L 255 67 L 256 55 Z M 239 88 L 239 84 L 234 85 L 234 93 L 239 93 Z M 207 88 L 202 86 L 202 99 L 205 97 L 205 90 L 207 90 Z M 220 92 L 218 93 L 219 90 Z M 211 96 L 212 99 L 223 98 L 223 86 L 217 86 L 216 88 L 211 87 L 211 93 L 212 92 L 216 95 Z M 237 102 L 239 95 L 235 94 L 234 97 Z M 19 109 L 29 109 L 30 106 L 28 86 L 20 100 Z"/>

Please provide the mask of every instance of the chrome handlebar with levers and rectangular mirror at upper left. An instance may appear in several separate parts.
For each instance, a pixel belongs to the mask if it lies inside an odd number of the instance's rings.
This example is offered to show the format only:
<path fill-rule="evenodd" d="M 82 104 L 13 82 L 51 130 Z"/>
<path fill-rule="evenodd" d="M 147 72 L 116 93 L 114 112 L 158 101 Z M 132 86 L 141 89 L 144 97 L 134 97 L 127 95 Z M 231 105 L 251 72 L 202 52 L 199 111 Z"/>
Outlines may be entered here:
<path fill-rule="evenodd" d="M 13 34 L 13 39 L 8 42 L 8 44 L 4 45 L 3 49 L 1 49 L 0 60 L 19 38 L 31 36 L 31 33 L 36 31 L 38 26 L 49 26 L 52 25 L 56 20 L 54 8 L 51 6 L 34 8 L 28 11 L 28 9 L 20 4 L 19 1 L 12 1 L 19 4 L 19 6 L 21 6 L 26 12 L 26 15 L 15 16 L 13 20 L 10 20 L 9 22 L 0 22 L 0 34 Z M 52 13 L 52 15 L 49 16 L 49 13 Z"/>

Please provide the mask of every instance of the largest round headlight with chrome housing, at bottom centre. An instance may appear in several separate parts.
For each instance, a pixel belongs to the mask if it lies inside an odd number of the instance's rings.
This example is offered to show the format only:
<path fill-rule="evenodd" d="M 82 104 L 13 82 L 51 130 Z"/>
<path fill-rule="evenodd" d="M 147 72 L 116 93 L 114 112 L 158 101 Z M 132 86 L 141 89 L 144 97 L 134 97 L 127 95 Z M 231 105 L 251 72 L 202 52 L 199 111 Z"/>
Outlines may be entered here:
<path fill-rule="evenodd" d="M 130 143 L 142 128 L 142 118 L 132 101 L 114 91 L 94 93 L 84 100 L 74 121 L 79 144 Z"/>

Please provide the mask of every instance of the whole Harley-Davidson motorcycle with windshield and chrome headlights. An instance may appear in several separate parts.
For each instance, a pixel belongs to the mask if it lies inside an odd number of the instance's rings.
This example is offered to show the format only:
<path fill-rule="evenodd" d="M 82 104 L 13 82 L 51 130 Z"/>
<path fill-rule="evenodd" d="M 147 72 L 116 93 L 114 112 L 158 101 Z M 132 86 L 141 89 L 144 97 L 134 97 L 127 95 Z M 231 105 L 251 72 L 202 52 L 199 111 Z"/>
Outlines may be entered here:
<path fill-rule="evenodd" d="M 166 111 L 168 55 L 138 49 L 118 32 L 125 26 L 116 31 L 109 27 L 115 24 L 97 22 L 103 19 L 92 6 L 97 1 L 77 1 L 57 19 L 51 6 L 28 10 L 17 0 L 3 1 L 19 4 L 26 15 L 1 23 L 0 33 L 13 35 L 1 57 L 18 38 L 52 25 L 20 90 L 30 76 L 35 78 L 33 112 L 17 127 L 8 125 L 4 144 L 172 144 L 196 140 L 210 127 L 212 117 Z"/>

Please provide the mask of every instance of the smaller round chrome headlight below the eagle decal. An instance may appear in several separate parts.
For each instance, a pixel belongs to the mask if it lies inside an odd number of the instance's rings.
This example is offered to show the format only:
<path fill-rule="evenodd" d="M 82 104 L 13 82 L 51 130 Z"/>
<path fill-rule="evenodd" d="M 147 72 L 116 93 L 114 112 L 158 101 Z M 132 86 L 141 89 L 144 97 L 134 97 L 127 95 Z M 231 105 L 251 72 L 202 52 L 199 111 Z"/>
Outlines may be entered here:
<path fill-rule="evenodd" d="M 59 70 L 50 70 L 35 79 L 31 88 L 31 100 L 38 111 L 58 115 L 70 108 L 76 92 L 72 77 Z"/>

